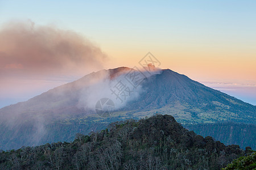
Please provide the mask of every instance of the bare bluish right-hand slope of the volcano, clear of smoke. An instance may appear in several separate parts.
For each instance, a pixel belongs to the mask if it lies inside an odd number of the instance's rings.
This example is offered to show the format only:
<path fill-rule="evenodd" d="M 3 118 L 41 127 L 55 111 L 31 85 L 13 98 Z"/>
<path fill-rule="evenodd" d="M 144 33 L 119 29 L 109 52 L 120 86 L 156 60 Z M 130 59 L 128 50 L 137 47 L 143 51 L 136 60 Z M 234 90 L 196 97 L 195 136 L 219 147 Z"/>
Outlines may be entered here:
<path fill-rule="evenodd" d="M 235 97 L 213 90 L 171 70 L 152 75 L 143 82 L 146 92 L 129 109 L 160 108 L 158 113 L 171 113 L 183 123 L 234 121 L 255 124 L 256 107 Z M 168 106 L 170 105 L 170 106 Z"/>

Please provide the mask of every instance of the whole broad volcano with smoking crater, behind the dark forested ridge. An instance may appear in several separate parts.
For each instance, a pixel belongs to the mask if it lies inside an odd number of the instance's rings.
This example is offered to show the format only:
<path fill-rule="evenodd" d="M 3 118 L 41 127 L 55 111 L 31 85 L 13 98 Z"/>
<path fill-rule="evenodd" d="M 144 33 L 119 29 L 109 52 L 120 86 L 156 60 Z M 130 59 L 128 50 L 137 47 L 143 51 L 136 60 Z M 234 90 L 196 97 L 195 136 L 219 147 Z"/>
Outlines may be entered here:
<path fill-rule="evenodd" d="M 104 116 L 95 110 L 101 99 L 114 103 Z M 182 124 L 232 121 L 255 125 L 255 113 L 256 106 L 172 70 L 119 67 L 85 75 L 0 109 L 0 149 L 70 141 L 76 133 L 88 134 L 110 122 L 154 114 L 171 114 Z"/>

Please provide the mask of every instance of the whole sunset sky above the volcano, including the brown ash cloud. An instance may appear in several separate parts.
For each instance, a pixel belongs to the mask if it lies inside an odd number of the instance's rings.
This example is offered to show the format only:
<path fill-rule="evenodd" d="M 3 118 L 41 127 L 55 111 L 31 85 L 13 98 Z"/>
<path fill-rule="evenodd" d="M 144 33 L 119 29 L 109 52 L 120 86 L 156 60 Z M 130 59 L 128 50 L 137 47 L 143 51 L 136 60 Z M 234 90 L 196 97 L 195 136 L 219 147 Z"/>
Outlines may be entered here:
<path fill-rule="evenodd" d="M 256 1 L 2 1 L 0 108 L 92 71 L 162 69 L 256 105 Z"/>

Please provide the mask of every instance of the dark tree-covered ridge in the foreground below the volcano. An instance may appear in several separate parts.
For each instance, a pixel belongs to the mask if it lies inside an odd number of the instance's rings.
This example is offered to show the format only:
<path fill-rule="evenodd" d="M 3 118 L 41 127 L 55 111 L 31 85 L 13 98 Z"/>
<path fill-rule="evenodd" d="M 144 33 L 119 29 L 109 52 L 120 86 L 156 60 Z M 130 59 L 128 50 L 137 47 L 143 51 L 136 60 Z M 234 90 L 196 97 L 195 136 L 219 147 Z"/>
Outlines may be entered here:
<path fill-rule="evenodd" d="M 221 169 L 245 156 L 184 129 L 174 117 L 157 115 L 115 122 L 75 141 L 0 153 L 0 169 Z"/>

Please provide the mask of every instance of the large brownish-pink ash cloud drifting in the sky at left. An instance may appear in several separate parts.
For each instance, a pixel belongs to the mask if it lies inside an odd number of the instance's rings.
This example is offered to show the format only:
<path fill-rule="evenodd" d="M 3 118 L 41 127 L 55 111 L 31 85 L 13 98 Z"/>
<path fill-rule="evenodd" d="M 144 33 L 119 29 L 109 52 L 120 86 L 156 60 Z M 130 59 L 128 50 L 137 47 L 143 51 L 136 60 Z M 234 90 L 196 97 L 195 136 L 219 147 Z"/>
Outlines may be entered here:
<path fill-rule="evenodd" d="M 0 29 L 0 76 L 84 75 L 102 69 L 106 54 L 73 31 L 34 22 Z"/>

